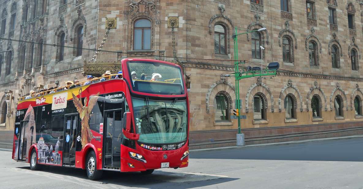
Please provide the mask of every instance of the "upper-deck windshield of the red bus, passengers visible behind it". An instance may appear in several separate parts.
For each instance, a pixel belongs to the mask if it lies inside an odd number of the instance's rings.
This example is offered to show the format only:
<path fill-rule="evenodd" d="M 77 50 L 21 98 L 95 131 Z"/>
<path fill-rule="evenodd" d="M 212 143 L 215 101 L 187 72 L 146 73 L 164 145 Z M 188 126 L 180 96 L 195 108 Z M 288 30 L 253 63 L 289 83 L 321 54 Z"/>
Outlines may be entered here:
<path fill-rule="evenodd" d="M 151 61 L 128 61 L 132 89 L 153 94 L 184 94 L 180 68 Z"/>

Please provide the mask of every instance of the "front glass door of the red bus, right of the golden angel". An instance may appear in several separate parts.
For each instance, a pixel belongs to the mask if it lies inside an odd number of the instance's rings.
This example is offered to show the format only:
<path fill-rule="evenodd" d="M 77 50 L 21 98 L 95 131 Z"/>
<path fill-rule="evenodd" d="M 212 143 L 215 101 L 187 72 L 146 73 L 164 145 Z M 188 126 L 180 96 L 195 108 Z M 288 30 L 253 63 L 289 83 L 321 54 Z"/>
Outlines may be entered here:
<path fill-rule="evenodd" d="M 105 110 L 103 131 L 103 166 L 109 169 L 121 168 L 122 109 Z"/>

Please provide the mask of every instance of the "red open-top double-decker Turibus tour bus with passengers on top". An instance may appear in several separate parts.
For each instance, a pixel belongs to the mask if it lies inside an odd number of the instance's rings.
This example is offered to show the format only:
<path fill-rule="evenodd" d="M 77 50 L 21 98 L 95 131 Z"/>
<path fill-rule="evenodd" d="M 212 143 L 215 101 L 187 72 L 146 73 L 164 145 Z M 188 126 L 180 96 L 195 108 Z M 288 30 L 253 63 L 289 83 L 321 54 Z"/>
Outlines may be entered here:
<path fill-rule="evenodd" d="M 12 158 L 32 170 L 86 169 L 91 180 L 103 170 L 150 174 L 188 166 L 189 104 L 180 66 L 123 59 L 121 67 L 121 79 L 20 99 Z"/>

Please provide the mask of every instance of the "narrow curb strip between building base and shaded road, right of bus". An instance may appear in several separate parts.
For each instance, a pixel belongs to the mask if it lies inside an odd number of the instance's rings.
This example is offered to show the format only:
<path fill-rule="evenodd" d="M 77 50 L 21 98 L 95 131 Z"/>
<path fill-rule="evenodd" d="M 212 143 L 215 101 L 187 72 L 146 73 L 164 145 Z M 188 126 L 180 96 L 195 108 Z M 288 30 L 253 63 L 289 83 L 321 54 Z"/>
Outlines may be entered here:
<path fill-rule="evenodd" d="M 252 145 L 245 145 L 245 146 L 226 146 L 226 147 L 219 147 L 219 148 L 194 149 L 194 150 L 189 150 L 189 151 L 190 152 L 198 152 L 198 151 L 221 150 L 221 149 L 238 149 L 238 148 L 246 148 L 246 147 L 254 147 L 254 146 L 284 145 L 284 144 L 295 144 L 295 143 L 304 143 L 304 142 L 311 142 L 311 141 L 339 140 L 339 139 L 359 138 L 359 137 L 363 137 L 363 135 L 354 135 L 354 136 L 346 136 L 346 137 L 333 137 L 333 138 L 317 138 L 317 139 L 310 139 L 310 140 L 298 140 L 298 141 L 289 141 L 289 142 L 275 142 L 275 143 L 266 143 L 266 144 L 252 144 Z"/>

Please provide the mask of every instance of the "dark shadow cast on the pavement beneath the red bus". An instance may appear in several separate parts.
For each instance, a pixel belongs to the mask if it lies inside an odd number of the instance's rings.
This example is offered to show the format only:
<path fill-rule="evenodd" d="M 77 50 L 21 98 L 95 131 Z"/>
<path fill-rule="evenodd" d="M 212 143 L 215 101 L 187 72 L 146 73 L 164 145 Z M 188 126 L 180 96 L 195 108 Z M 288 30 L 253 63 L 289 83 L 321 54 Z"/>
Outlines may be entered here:
<path fill-rule="evenodd" d="M 18 168 L 30 170 L 29 166 Z M 41 170 L 39 170 L 39 172 L 66 175 L 87 180 L 86 172 L 82 169 L 44 166 Z M 220 184 L 237 179 L 238 178 L 226 178 L 213 175 L 166 172 L 163 170 L 155 170 L 154 173 L 150 175 L 143 175 L 140 172 L 121 173 L 104 171 L 100 180 L 90 182 L 94 182 L 95 184 L 115 184 L 127 187 L 142 187 L 149 189 L 167 187 L 172 187 L 173 189 L 189 189 Z"/>

